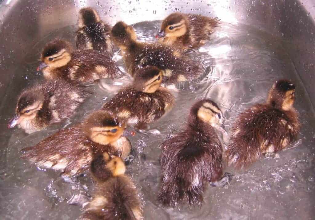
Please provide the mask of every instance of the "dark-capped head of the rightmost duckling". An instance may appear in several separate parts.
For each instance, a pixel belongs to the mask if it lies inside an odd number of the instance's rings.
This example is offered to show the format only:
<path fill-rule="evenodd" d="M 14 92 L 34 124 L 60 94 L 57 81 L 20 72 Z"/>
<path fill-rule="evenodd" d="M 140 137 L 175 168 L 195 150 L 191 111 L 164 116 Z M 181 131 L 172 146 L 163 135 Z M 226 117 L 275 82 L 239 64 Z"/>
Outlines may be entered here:
<path fill-rule="evenodd" d="M 278 80 L 269 91 L 267 103 L 274 108 L 288 111 L 295 102 L 295 85 L 291 80 Z"/>

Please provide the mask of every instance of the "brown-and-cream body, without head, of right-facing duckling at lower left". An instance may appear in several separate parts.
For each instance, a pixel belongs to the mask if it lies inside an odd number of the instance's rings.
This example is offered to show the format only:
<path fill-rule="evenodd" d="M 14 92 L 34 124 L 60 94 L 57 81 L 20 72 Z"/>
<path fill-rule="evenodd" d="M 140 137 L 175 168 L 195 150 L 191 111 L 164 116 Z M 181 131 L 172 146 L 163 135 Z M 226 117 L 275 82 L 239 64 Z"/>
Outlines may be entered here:
<path fill-rule="evenodd" d="M 42 168 L 51 168 L 74 175 L 88 168 L 92 160 L 91 142 L 80 126 L 61 130 L 37 145 L 22 149 L 21 156 Z"/>

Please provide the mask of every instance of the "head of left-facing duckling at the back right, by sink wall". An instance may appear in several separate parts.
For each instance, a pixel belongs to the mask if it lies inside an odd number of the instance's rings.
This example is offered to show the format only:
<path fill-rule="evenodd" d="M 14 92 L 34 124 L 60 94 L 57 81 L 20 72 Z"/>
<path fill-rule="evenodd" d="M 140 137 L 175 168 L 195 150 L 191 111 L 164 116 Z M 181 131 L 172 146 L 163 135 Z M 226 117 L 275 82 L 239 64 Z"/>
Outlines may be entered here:
<path fill-rule="evenodd" d="M 188 21 L 183 14 L 173 13 L 163 20 L 161 30 L 155 36 L 160 37 L 180 37 L 187 33 Z"/>

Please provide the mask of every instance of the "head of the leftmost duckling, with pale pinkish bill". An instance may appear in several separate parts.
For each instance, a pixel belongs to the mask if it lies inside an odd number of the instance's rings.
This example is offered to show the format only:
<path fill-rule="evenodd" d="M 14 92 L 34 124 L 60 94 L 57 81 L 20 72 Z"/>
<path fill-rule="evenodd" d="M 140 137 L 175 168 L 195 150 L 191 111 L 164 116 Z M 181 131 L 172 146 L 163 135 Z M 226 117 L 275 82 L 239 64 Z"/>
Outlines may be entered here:
<path fill-rule="evenodd" d="M 45 97 L 40 91 L 24 91 L 18 98 L 15 116 L 8 123 L 8 128 L 14 128 L 22 121 L 30 121 L 43 108 Z"/>

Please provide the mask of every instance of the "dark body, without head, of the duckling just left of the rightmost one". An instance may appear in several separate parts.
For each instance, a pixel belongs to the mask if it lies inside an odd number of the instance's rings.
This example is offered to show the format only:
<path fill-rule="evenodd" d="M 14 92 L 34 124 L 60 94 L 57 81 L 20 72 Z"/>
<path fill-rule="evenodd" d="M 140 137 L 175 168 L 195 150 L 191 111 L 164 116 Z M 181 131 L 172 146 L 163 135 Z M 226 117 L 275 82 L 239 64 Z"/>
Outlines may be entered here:
<path fill-rule="evenodd" d="M 211 135 L 186 131 L 162 144 L 158 199 L 164 206 L 177 206 L 184 199 L 190 205 L 202 205 L 204 182 L 215 181 L 222 175 L 222 148 L 217 141 Z"/>

